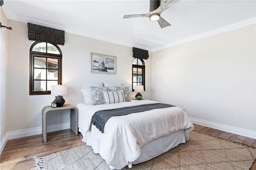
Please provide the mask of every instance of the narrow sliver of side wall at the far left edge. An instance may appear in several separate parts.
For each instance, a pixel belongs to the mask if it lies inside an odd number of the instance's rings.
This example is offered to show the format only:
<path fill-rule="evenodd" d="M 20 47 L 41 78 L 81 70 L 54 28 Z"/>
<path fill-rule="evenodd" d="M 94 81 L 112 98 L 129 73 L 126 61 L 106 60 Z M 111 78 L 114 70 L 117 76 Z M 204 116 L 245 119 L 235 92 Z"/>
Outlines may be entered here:
<path fill-rule="evenodd" d="M 8 20 L 0 7 L 0 18 L 1 23 L 8 26 Z M 0 30 L 0 141 L 4 138 L 7 133 L 7 42 L 8 42 L 8 32 L 10 30 L 2 28 Z"/>

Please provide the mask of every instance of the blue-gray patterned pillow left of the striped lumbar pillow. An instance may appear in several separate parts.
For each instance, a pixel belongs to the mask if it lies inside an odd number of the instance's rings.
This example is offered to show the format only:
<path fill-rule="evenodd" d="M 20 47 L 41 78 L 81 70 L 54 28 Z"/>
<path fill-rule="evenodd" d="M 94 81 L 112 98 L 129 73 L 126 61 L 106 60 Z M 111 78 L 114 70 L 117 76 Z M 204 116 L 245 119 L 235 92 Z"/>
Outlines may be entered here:
<path fill-rule="evenodd" d="M 109 87 L 90 86 L 92 92 L 92 105 L 105 104 L 102 91 L 109 91 Z"/>

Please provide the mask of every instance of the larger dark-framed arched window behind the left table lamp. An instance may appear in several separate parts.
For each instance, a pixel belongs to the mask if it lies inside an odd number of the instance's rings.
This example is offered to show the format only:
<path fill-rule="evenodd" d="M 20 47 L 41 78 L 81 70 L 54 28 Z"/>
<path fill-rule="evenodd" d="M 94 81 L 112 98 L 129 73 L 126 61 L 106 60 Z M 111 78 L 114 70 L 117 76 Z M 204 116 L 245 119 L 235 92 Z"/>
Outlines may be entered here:
<path fill-rule="evenodd" d="M 34 42 L 29 66 L 29 95 L 51 94 L 51 85 L 62 84 L 62 53 L 58 45 Z"/>

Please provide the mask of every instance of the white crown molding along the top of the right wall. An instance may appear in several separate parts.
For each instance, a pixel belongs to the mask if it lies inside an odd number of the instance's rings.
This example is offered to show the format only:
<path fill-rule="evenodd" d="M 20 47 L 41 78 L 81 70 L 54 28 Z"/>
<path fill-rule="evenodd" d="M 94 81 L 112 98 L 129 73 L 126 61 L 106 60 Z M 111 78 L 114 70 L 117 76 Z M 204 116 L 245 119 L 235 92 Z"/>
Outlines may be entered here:
<path fill-rule="evenodd" d="M 183 43 L 188 43 L 190 41 L 194 41 L 194 40 L 201 39 L 201 38 L 204 38 L 204 37 L 209 37 L 211 35 L 223 33 L 223 32 L 226 32 L 226 31 L 230 31 L 232 29 L 244 27 L 246 25 L 251 25 L 251 24 L 254 24 L 254 23 L 256 23 L 256 17 L 248 18 L 246 20 L 242 20 L 242 21 L 239 21 L 239 22 L 236 22 L 236 23 L 232 23 L 232 24 L 226 25 L 224 27 L 220 27 L 220 28 L 217 28 L 217 29 L 212 29 L 212 30 L 204 32 L 204 33 L 200 33 L 200 34 L 197 34 L 197 35 L 185 38 L 185 39 L 181 39 L 181 40 L 176 41 L 174 43 L 170 43 L 170 44 L 162 45 L 160 47 L 152 48 L 151 51 L 154 52 L 154 51 L 166 49 L 166 48 L 169 48 L 169 47 L 173 47 L 173 46 L 180 45 L 180 44 L 183 44 Z"/>

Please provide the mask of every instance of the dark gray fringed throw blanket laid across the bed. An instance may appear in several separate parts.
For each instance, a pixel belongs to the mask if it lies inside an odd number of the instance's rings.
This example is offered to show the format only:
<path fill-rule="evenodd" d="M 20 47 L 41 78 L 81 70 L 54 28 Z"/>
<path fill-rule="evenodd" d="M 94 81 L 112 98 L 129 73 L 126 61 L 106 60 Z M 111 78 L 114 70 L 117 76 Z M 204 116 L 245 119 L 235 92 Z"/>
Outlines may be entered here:
<path fill-rule="evenodd" d="M 132 107 L 124 107 L 119 109 L 112 110 L 101 110 L 94 113 L 92 116 L 92 124 L 96 126 L 102 133 L 104 133 L 104 127 L 108 119 L 112 116 L 121 116 L 128 115 L 130 113 L 137 113 L 142 111 L 148 111 L 152 109 L 162 109 L 166 107 L 175 107 L 170 104 L 148 104 L 148 105 L 140 105 L 140 106 L 132 106 Z"/>

